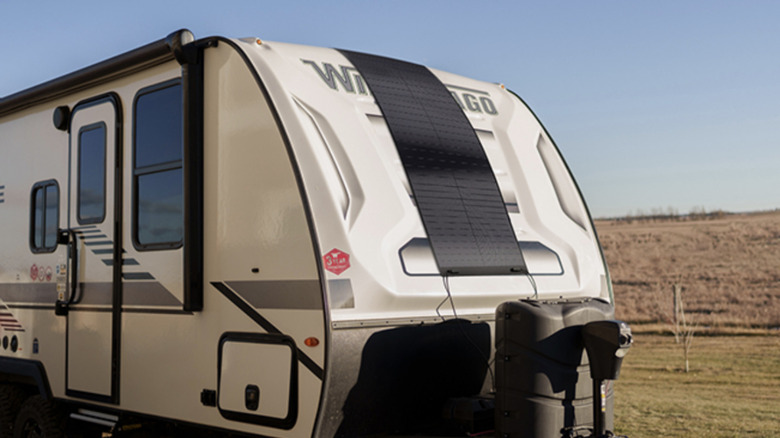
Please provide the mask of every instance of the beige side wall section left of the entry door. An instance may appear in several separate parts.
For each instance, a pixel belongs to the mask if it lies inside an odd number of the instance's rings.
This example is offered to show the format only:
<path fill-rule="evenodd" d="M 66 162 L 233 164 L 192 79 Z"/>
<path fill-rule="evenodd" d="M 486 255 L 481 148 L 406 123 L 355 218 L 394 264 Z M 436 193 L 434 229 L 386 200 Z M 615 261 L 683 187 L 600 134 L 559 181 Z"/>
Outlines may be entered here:
<path fill-rule="evenodd" d="M 67 223 L 68 134 L 52 124 L 55 106 L 0 119 L 0 355 L 41 361 L 52 392 L 62 395 L 65 319 L 54 315 L 54 302 L 57 265 L 65 262 L 66 253 L 59 248 L 35 254 L 29 243 L 30 196 L 36 182 L 57 182 L 59 226 Z M 16 351 L 10 346 L 14 337 Z M 8 340 L 6 348 L 3 339 Z"/>

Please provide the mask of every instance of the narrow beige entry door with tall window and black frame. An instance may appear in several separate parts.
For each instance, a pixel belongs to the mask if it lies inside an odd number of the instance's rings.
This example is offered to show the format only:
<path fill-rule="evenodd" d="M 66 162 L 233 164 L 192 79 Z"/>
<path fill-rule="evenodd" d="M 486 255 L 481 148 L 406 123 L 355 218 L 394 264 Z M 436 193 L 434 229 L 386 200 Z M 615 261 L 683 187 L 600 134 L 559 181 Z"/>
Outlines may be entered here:
<path fill-rule="evenodd" d="M 119 114 L 115 95 L 90 99 L 73 109 L 70 129 L 68 227 L 76 251 L 70 252 L 68 265 L 76 287 L 68 291 L 66 392 L 109 403 L 119 398 Z"/>

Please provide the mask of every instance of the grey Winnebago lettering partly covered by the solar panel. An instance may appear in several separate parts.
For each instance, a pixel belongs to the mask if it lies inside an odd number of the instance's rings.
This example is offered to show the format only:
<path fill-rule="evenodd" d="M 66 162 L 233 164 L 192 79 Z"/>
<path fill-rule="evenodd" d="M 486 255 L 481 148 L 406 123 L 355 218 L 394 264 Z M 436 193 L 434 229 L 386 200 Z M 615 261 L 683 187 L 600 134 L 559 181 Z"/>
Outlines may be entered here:
<path fill-rule="evenodd" d="M 368 86 L 360 76 L 355 67 L 346 65 L 334 66 L 329 62 L 320 63 L 308 59 L 301 60 L 304 64 L 310 65 L 317 75 L 325 82 L 325 85 L 333 90 L 343 90 L 352 94 L 368 95 Z M 446 84 L 445 84 L 446 85 Z M 455 102 L 458 102 L 464 111 L 472 113 L 484 113 L 497 115 L 495 103 L 486 91 L 474 90 L 471 88 L 459 87 L 457 85 L 446 85 L 452 94 Z"/>

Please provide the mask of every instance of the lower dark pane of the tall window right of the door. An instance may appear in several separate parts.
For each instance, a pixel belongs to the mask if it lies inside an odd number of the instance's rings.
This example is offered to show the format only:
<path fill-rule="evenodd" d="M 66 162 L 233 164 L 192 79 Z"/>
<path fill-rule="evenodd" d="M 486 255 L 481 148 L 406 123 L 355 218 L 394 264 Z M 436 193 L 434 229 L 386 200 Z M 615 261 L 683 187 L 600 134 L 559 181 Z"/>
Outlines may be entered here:
<path fill-rule="evenodd" d="M 138 177 L 138 243 L 182 240 L 181 181 L 181 168 Z"/>

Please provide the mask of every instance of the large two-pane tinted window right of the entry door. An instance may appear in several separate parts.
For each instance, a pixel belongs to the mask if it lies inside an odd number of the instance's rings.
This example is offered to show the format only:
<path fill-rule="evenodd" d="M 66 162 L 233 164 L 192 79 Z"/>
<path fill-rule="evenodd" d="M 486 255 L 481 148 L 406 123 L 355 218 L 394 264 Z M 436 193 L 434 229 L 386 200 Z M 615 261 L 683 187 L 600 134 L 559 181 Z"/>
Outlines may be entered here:
<path fill-rule="evenodd" d="M 178 248 L 184 235 L 181 84 L 141 90 L 133 113 L 133 242 L 141 250 Z"/>

